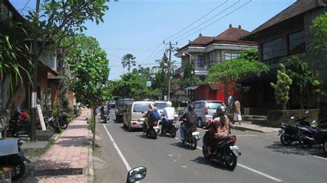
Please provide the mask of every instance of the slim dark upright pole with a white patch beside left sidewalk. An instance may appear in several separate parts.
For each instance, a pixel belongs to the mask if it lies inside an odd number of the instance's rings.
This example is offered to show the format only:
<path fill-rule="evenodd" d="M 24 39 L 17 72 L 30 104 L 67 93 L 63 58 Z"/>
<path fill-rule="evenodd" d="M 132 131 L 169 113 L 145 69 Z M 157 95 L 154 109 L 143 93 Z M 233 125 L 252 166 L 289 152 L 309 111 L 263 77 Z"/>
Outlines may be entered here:
<path fill-rule="evenodd" d="M 39 19 L 39 10 L 40 10 L 40 0 L 37 0 L 37 8 L 35 10 L 37 14 L 37 19 Z M 35 35 L 34 49 L 37 50 L 37 34 Z M 30 127 L 30 141 L 35 141 L 37 136 L 37 63 L 39 62 L 38 57 L 34 60 L 34 69 L 33 69 L 33 85 L 32 85 L 32 101 L 31 101 L 31 127 Z"/>

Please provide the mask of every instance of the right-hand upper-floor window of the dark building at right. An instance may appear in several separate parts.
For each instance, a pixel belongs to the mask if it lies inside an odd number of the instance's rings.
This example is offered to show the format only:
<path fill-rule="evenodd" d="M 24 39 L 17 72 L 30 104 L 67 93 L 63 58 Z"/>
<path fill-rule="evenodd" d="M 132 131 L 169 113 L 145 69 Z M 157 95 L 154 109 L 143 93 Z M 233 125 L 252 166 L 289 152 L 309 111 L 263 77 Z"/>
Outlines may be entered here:
<path fill-rule="evenodd" d="M 298 54 L 306 51 L 304 30 L 288 35 L 288 54 Z"/>

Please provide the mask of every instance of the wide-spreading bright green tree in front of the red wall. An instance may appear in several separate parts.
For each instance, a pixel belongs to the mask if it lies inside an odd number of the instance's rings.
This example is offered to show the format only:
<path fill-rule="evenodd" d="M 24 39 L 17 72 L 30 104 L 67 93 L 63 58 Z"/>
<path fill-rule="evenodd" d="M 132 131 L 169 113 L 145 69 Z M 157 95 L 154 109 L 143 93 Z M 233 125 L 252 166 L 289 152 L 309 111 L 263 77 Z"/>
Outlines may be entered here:
<path fill-rule="evenodd" d="M 268 72 L 269 67 L 255 59 L 257 59 L 257 50 L 241 52 L 235 59 L 210 67 L 206 80 L 224 84 L 227 100 L 228 91 L 244 88 L 241 86 L 242 80 L 248 76 L 259 76 L 262 72 Z"/>

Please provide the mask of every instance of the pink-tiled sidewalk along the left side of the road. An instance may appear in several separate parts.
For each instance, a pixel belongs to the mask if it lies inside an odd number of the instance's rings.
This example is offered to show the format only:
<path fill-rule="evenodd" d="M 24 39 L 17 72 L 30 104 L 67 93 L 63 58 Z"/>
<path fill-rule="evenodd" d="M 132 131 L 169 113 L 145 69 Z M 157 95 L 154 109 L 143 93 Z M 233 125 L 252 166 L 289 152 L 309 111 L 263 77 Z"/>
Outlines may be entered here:
<path fill-rule="evenodd" d="M 88 182 L 90 109 L 75 118 L 23 182 Z"/>

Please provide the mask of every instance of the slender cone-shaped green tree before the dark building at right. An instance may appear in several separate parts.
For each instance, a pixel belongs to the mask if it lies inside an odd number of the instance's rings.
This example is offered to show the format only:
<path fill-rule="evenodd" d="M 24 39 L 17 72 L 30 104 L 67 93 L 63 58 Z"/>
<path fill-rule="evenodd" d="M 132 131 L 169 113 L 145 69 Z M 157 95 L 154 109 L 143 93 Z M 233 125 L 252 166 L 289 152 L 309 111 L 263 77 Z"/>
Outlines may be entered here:
<path fill-rule="evenodd" d="M 270 83 L 271 87 L 275 89 L 275 99 L 277 104 L 281 105 L 283 110 L 286 110 L 286 103 L 290 99 L 288 92 L 290 91 L 290 85 L 292 85 L 292 79 L 286 74 L 285 66 L 279 64 L 281 69 L 277 71 L 277 83 Z"/>

